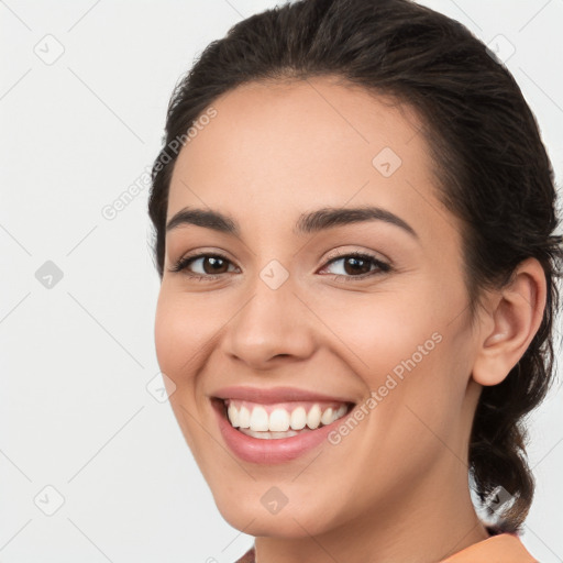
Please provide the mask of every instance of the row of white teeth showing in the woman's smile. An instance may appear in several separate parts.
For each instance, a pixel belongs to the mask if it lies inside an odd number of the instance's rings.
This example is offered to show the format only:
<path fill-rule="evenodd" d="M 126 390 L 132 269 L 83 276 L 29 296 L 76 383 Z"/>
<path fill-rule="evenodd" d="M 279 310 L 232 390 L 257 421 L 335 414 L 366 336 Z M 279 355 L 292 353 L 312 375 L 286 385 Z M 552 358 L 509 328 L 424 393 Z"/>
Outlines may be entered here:
<path fill-rule="evenodd" d="M 238 408 L 233 401 L 229 401 L 227 416 L 234 428 L 244 431 L 245 434 L 260 438 L 289 438 L 296 435 L 296 430 L 316 430 L 320 424 L 327 426 L 347 412 L 346 405 L 335 409 L 328 407 L 321 410 L 320 405 L 313 404 L 309 412 L 303 406 L 296 407 L 291 412 L 286 408 L 276 407 L 268 415 L 267 410 L 261 406 L 249 409 L 245 406 Z M 307 427 L 307 428 L 306 428 Z"/>

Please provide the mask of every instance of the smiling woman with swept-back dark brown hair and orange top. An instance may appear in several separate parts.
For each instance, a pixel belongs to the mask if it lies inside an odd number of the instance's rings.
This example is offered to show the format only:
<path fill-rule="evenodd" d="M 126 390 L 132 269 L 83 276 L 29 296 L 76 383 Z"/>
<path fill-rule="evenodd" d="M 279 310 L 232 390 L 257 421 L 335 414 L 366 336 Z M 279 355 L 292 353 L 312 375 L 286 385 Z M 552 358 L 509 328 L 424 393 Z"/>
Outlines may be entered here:
<path fill-rule="evenodd" d="M 155 342 L 240 561 L 536 561 L 554 201 L 514 78 L 428 8 L 302 0 L 208 46 L 153 168 Z"/>

